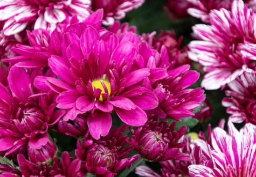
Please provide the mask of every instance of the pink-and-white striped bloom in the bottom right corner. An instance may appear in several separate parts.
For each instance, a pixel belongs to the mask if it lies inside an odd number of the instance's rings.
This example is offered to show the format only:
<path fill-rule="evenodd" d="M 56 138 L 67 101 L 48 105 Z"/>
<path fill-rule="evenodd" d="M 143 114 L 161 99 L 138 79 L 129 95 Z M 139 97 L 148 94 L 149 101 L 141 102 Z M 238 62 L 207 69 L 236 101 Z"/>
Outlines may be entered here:
<path fill-rule="evenodd" d="M 215 128 L 211 143 L 201 141 L 200 149 L 209 154 L 204 163 L 189 166 L 191 176 L 255 176 L 256 131 L 252 124 L 246 124 L 238 131 L 229 121 L 229 133 Z M 196 143 L 196 141 L 195 141 Z"/>

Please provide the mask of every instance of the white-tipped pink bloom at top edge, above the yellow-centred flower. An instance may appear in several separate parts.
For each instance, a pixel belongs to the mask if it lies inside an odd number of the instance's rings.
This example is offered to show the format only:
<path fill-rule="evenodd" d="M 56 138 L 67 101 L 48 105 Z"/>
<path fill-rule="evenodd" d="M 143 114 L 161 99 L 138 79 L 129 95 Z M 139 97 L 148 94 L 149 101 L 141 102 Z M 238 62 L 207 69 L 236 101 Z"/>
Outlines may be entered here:
<path fill-rule="evenodd" d="M 104 10 L 104 25 L 112 25 L 115 20 L 121 20 L 126 13 L 139 8 L 145 0 L 93 0 L 92 9 Z"/>

